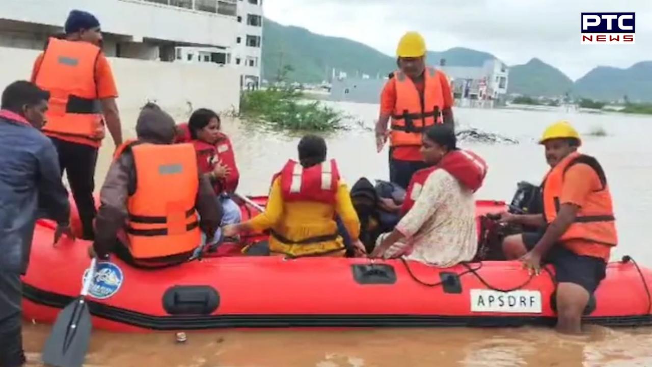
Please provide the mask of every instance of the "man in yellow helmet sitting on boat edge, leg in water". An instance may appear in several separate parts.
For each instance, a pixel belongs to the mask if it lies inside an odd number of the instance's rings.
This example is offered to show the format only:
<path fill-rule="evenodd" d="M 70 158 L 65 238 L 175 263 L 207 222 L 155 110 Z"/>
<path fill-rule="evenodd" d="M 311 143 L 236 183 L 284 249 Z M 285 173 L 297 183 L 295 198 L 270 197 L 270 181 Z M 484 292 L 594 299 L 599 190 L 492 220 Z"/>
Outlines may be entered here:
<path fill-rule="evenodd" d="M 597 159 L 577 152 L 582 141 L 567 121 L 548 127 L 539 144 L 551 167 L 542 184 L 543 214 L 503 213 L 501 221 L 541 231 L 507 236 L 503 251 L 536 272 L 542 260 L 554 264 L 557 330 L 576 334 L 618 242 L 612 197 Z"/>

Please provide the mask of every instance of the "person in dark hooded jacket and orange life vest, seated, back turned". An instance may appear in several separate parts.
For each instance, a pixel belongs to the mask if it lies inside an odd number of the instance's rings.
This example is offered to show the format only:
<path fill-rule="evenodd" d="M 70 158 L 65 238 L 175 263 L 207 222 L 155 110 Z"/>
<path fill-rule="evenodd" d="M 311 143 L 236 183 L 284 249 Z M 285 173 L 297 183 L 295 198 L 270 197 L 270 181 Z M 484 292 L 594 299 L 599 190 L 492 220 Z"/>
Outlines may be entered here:
<path fill-rule="evenodd" d="M 170 115 L 147 104 L 136 134 L 138 140 L 118 148 L 102 185 L 91 255 L 107 259 L 116 251 L 128 263 L 151 267 L 181 263 L 200 245 L 200 229 L 213 237 L 221 210 L 193 146 L 172 144 Z"/>

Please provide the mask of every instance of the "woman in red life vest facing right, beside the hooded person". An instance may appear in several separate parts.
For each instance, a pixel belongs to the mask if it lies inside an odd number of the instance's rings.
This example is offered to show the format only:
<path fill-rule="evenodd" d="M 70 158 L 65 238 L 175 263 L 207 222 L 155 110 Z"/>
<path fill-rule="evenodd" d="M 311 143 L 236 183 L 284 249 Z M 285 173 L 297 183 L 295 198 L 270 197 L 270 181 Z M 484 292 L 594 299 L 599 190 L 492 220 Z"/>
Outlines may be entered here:
<path fill-rule="evenodd" d="M 187 124 L 177 126 L 177 142 L 189 141 L 194 145 L 200 172 L 213 183 L 218 205 L 222 206 L 222 225 L 228 225 L 242 220 L 240 207 L 230 197 L 237 189 L 240 173 L 233 144 L 220 131 L 221 125 L 218 114 L 200 108 L 193 112 Z"/>

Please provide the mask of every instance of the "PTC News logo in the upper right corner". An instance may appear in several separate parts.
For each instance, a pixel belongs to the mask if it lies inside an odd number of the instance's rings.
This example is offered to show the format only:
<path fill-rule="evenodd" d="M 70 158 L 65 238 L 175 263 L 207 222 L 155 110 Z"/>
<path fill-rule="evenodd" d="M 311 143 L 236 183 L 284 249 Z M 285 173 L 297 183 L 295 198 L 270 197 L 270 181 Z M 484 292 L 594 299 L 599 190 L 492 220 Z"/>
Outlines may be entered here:
<path fill-rule="evenodd" d="M 583 12 L 582 44 L 634 44 L 633 12 Z"/>

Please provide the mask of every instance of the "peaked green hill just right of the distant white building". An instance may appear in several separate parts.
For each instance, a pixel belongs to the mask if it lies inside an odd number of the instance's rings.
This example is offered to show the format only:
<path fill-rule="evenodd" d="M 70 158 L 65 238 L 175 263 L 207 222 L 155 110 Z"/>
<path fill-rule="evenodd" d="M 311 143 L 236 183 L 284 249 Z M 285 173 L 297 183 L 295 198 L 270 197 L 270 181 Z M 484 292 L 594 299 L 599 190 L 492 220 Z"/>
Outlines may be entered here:
<path fill-rule="evenodd" d="M 556 97 L 571 91 L 572 86 L 571 78 L 540 59 L 509 68 L 507 93 Z"/>

